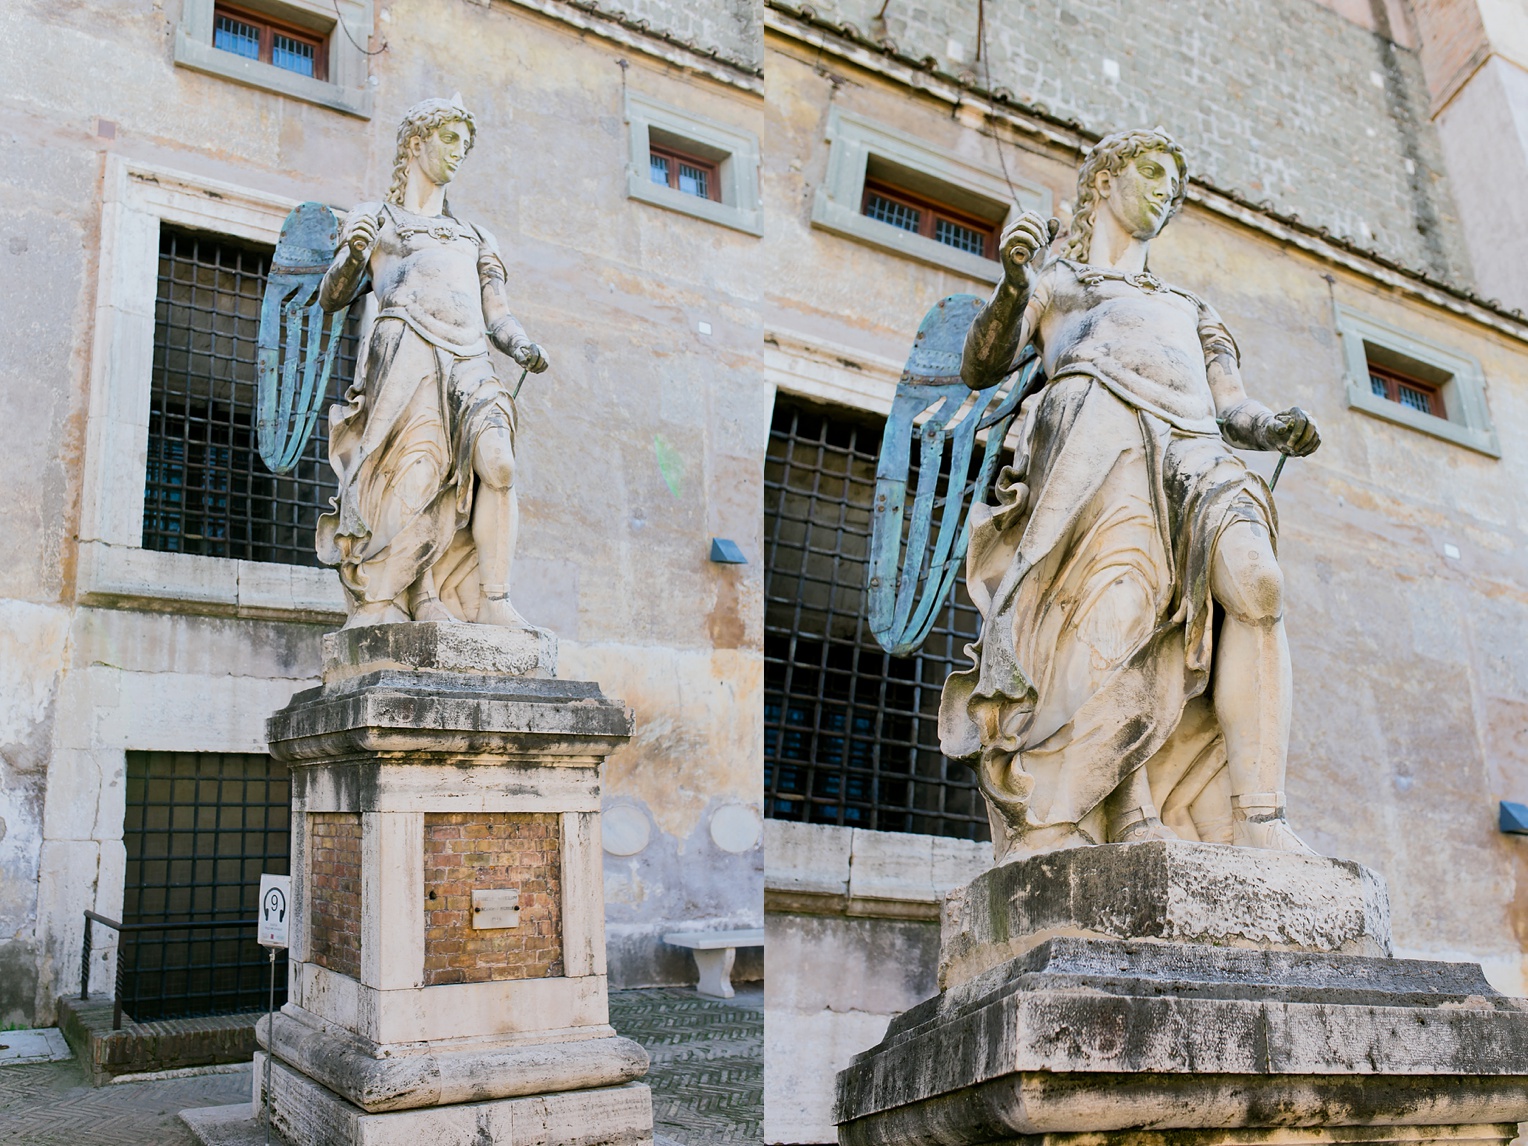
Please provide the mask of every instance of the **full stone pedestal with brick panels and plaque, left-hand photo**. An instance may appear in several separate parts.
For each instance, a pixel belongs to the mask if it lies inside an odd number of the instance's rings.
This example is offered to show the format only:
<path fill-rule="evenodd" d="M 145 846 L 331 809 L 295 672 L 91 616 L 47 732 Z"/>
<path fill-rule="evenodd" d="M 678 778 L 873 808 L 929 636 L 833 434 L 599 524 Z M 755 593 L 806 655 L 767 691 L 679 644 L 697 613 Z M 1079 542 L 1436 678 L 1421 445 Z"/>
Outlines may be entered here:
<path fill-rule="evenodd" d="M 649 1143 L 605 987 L 599 769 L 631 715 L 555 680 L 544 633 L 379 625 L 324 652 L 269 723 L 292 769 L 290 1001 L 258 1030 L 277 1131 Z"/>

